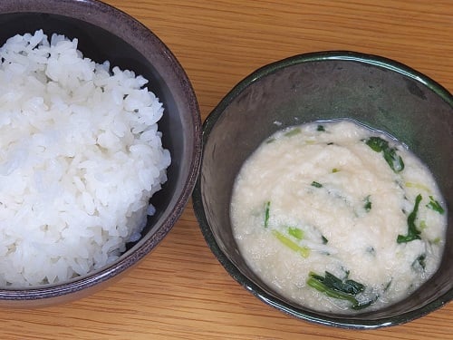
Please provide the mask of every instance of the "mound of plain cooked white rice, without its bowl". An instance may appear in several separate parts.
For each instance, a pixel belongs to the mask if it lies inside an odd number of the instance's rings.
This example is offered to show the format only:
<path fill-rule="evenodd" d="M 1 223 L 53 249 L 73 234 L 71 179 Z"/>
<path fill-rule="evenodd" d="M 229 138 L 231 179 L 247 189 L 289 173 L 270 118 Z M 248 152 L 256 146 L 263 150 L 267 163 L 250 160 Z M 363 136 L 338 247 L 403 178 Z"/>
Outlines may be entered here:
<path fill-rule="evenodd" d="M 0 48 L 0 285 L 82 276 L 140 238 L 167 180 L 159 99 L 142 76 L 43 31 Z"/>

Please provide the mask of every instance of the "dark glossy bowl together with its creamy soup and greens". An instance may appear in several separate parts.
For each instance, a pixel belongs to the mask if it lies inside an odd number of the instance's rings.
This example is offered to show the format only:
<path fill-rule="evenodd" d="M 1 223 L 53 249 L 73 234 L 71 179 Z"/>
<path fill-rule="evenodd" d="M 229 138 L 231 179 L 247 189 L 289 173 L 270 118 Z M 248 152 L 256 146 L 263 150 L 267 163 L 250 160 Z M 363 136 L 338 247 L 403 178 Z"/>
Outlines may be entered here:
<path fill-rule="evenodd" d="M 453 298 L 452 129 L 451 93 L 385 57 L 265 65 L 203 124 L 193 204 L 207 245 L 238 284 L 304 321 L 425 316 Z"/>

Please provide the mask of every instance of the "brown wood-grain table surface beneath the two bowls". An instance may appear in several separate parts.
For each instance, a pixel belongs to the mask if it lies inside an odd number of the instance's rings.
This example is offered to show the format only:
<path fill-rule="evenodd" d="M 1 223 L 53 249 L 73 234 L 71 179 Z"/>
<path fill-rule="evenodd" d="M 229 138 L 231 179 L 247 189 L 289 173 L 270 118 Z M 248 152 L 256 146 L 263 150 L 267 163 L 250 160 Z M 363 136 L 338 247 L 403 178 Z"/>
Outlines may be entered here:
<path fill-rule="evenodd" d="M 453 91 L 451 0 L 108 0 L 147 25 L 187 70 L 202 119 L 259 66 L 352 50 L 406 63 Z M 452 278 L 453 279 L 453 278 Z M 0 310 L 0 339 L 453 339 L 453 304 L 406 325 L 342 330 L 285 316 L 236 284 L 191 202 L 159 248 L 110 288 L 35 310 Z"/>

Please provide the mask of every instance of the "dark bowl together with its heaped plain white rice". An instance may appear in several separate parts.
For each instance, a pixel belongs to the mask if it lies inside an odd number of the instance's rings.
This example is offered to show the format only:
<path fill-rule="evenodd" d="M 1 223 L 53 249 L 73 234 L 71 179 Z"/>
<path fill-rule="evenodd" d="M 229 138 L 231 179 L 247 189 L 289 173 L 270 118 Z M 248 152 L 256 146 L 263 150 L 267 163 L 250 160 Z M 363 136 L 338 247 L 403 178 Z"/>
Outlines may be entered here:
<path fill-rule="evenodd" d="M 86 296 L 158 246 L 201 153 L 169 48 L 98 1 L 0 5 L 0 305 Z"/>

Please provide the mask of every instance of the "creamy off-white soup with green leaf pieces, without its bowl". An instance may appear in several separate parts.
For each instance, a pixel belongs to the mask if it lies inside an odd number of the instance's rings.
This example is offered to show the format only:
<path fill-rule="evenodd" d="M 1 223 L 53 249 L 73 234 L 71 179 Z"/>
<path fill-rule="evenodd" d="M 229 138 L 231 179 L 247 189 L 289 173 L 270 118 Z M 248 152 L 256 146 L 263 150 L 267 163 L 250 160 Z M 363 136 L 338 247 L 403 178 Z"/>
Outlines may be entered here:
<path fill-rule="evenodd" d="M 314 310 L 357 313 L 435 273 L 447 211 L 402 143 L 341 120 L 264 141 L 237 175 L 231 220 L 248 266 L 275 291 Z"/>

